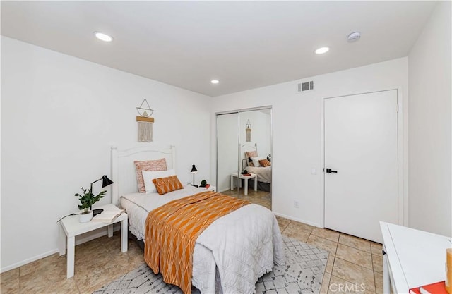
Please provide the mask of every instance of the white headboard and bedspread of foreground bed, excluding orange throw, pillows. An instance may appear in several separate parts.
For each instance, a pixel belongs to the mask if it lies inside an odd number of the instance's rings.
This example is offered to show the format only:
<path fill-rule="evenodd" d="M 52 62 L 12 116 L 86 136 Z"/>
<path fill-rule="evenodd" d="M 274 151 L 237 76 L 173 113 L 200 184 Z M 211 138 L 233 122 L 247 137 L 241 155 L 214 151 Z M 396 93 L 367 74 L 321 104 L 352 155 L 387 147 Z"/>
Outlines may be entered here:
<path fill-rule="evenodd" d="M 147 237 L 145 219 L 149 212 L 203 191 L 184 185 L 165 195 L 137 192 L 133 161 L 165 158 L 167 169 L 176 167 L 174 146 L 152 146 L 112 147 L 112 202 L 126 209 L 129 231 L 142 241 Z M 283 240 L 275 216 L 265 207 L 248 204 L 216 219 L 198 236 L 191 285 L 201 293 L 254 293 L 258 278 L 271 271 L 273 264 L 284 263 Z"/>

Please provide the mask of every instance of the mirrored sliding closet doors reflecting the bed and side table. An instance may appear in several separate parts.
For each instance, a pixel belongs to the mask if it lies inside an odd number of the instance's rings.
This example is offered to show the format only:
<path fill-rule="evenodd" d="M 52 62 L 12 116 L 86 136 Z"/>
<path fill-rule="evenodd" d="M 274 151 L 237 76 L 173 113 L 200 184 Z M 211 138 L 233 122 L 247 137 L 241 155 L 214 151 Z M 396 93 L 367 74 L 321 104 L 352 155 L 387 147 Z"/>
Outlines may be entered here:
<path fill-rule="evenodd" d="M 271 209 L 271 107 L 215 115 L 218 192 Z"/>

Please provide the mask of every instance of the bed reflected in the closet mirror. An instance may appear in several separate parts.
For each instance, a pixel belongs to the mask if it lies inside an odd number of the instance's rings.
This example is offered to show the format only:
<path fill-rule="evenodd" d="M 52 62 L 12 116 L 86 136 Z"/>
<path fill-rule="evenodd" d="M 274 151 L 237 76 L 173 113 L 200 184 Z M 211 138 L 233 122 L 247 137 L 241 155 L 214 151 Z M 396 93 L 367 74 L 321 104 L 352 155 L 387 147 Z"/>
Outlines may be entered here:
<path fill-rule="evenodd" d="M 258 180 L 258 190 L 271 192 L 271 163 L 270 157 L 259 156 L 257 143 L 246 143 L 241 145 L 242 171 L 246 169 L 249 173 L 256 173 Z M 270 155 L 270 154 L 268 154 Z M 268 159 L 269 166 L 259 164 L 260 159 Z M 249 180 L 249 185 L 254 185 L 254 179 Z"/>

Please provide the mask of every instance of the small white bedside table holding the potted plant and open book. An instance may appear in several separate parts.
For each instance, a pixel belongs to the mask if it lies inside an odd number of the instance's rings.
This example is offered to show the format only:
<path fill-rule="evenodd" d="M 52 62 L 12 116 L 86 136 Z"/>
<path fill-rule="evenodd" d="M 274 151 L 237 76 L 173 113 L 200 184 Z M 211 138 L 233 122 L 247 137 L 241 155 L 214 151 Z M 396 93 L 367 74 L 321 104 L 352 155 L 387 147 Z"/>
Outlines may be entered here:
<path fill-rule="evenodd" d="M 103 205 L 101 207 L 96 207 L 96 209 L 104 209 L 119 211 L 119 208 L 113 204 Z M 75 257 L 75 247 L 76 247 L 76 235 L 81 235 L 83 233 L 88 233 L 94 231 L 97 228 L 107 227 L 108 236 L 113 236 L 113 224 L 121 222 L 121 252 L 127 251 L 127 214 L 123 212 L 117 219 L 114 219 L 112 223 L 100 223 L 97 221 L 90 221 L 88 223 L 80 223 L 78 219 L 80 216 L 67 216 L 62 219 L 59 229 L 59 255 L 64 255 L 66 253 L 66 242 L 67 242 L 67 267 L 66 267 L 66 277 L 71 278 L 74 272 L 74 257 Z"/>

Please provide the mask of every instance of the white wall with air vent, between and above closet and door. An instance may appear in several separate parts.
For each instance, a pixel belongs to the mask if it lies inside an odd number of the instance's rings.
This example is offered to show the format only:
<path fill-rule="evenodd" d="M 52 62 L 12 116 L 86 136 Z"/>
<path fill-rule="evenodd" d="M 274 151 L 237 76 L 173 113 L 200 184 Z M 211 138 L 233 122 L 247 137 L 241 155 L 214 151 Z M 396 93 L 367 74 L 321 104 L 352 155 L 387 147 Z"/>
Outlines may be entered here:
<path fill-rule="evenodd" d="M 323 98 L 399 88 L 399 99 L 403 98 L 400 104 L 405 111 L 407 63 L 407 58 L 401 58 L 307 78 L 304 80 L 314 80 L 315 90 L 304 94 L 296 93 L 299 81 L 292 81 L 215 97 L 213 112 L 273 106 L 273 211 L 289 219 L 321 226 Z M 212 131 L 211 145 L 215 148 L 215 130 Z M 405 132 L 404 142 L 406 137 Z M 215 154 L 211 162 L 214 174 Z M 311 174 L 311 168 L 318 171 L 316 175 Z M 293 207 L 293 200 L 302 204 L 299 209 Z"/>

